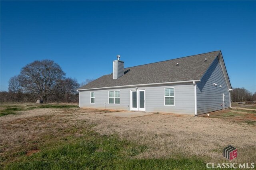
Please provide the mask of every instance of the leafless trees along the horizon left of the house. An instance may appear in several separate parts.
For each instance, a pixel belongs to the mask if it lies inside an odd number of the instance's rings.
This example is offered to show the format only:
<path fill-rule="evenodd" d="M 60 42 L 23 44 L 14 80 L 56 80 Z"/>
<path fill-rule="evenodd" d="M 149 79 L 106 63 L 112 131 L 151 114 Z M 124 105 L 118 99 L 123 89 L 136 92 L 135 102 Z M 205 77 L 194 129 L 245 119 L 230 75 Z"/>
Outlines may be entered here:
<path fill-rule="evenodd" d="M 0 92 L 1 102 L 78 102 L 80 87 L 76 79 L 65 77 L 60 65 L 52 60 L 34 61 L 11 77 L 8 91 Z M 81 85 L 93 81 L 86 79 Z"/>

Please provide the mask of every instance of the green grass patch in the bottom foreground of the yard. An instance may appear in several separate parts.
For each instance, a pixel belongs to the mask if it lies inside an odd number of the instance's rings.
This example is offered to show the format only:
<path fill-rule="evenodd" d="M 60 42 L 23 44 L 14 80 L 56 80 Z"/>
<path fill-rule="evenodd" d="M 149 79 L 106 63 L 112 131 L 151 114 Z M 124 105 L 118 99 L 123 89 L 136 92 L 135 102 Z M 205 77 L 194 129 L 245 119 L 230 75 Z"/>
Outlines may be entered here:
<path fill-rule="evenodd" d="M 146 151 L 148 146 L 136 145 L 118 136 L 101 136 L 90 129 L 83 132 L 82 137 L 66 136 L 38 148 L 40 152 L 26 156 L 26 152 L 17 152 L 16 161 L 4 166 L 13 170 L 76 170 L 76 169 L 107 169 L 107 170 L 169 170 L 205 169 L 203 160 L 184 158 L 177 159 L 136 159 L 136 155 Z M 4 158 L 3 158 L 4 159 Z"/>

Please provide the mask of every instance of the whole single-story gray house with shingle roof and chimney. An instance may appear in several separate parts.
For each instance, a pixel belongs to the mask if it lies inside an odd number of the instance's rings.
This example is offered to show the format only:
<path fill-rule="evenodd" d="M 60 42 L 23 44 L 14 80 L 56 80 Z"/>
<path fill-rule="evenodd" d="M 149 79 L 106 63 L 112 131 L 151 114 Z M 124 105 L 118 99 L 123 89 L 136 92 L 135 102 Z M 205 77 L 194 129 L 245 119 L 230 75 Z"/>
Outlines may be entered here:
<path fill-rule="evenodd" d="M 124 68 L 80 87 L 79 107 L 200 115 L 231 107 L 221 51 Z"/>

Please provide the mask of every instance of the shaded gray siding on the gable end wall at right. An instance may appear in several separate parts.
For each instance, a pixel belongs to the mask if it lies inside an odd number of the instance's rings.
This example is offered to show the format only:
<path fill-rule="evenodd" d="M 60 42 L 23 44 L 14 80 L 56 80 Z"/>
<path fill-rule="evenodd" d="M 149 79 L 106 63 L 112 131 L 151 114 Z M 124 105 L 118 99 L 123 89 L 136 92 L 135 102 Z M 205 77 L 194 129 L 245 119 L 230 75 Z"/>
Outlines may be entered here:
<path fill-rule="evenodd" d="M 217 84 L 217 87 L 214 86 L 214 83 Z M 219 59 L 216 57 L 200 83 L 197 83 L 197 114 L 223 109 L 221 106 L 223 93 L 225 94 L 225 108 L 228 108 L 230 107 L 228 86 Z"/>

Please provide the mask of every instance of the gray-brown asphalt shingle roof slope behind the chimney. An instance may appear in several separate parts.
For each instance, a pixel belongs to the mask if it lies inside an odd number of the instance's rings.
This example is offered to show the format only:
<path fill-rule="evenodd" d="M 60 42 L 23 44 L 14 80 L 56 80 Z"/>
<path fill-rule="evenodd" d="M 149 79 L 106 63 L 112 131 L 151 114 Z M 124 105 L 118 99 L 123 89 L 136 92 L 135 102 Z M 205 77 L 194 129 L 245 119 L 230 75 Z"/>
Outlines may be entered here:
<path fill-rule="evenodd" d="M 113 79 L 112 74 L 103 75 L 79 89 L 198 80 L 202 78 L 219 53 L 220 51 L 213 51 L 128 67 L 124 69 L 125 74 L 118 79 Z M 205 58 L 207 58 L 207 61 L 204 61 Z M 176 66 L 177 63 L 179 63 L 178 66 Z"/>

